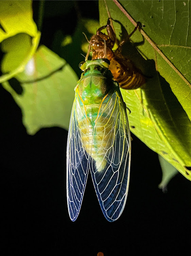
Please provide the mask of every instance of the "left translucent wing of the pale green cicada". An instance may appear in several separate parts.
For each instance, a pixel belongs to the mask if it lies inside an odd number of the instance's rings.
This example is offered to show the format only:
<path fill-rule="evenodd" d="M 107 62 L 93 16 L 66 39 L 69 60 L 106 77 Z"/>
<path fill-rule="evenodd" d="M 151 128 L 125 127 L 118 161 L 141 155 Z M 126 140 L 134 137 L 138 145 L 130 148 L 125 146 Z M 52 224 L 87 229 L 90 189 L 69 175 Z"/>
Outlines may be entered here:
<path fill-rule="evenodd" d="M 72 221 L 76 220 L 80 212 L 89 171 L 89 156 L 82 146 L 82 126 L 87 127 L 87 118 L 75 94 L 67 142 L 67 202 Z"/>

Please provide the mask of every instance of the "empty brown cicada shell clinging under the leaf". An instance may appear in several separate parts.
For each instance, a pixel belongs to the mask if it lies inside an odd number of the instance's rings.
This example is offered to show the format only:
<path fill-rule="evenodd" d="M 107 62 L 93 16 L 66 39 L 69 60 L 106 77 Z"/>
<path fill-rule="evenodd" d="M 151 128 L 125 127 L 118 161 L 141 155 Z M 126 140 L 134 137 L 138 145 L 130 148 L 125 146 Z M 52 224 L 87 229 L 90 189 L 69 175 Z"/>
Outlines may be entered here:
<path fill-rule="evenodd" d="M 109 70 L 114 76 L 114 80 L 117 81 L 119 86 L 123 89 L 137 89 L 146 81 L 145 76 L 135 67 L 134 63 L 122 55 L 122 45 L 131 37 L 138 27 L 139 26 L 137 25 L 133 32 L 128 35 L 126 40 L 118 43 L 118 48 L 115 52 L 112 51 L 112 48 L 116 42 L 116 35 L 110 25 L 110 19 L 108 19 L 107 25 L 99 28 L 97 33 L 93 35 L 89 41 L 86 59 L 90 51 L 92 51 L 92 59 L 109 59 Z M 105 28 L 108 35 L 101 32 Z"/>

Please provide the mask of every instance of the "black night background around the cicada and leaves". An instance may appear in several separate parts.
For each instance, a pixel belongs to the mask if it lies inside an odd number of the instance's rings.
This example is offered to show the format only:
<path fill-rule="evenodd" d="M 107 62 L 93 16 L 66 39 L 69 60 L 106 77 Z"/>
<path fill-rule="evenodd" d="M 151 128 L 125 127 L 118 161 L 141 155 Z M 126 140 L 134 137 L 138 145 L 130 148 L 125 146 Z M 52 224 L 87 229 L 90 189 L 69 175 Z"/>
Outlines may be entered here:
<path fill-rule="evenodd" d="M 34 1 L 36 23 L 38 8 L 39 1 Z M 73 5 L 71 1 L 46 1 L 40 43 L 52 49 L 58 28 L 64 34 L 74 33 L 79 12 L 83 17 L 99 19 L 98 2 L 77 1 Z M 67 131 L 53 127 L 28 135 L 12 96 L 2 87 L 0 95 L 5 247 L 1 255 L 189 252 L 191 189 L 184 176 L 176 175 L 168 192 L 162 193 L 158 189 L 161 168 L 157 154 L 132 134 L 131 179 L 121 217 L 114 223 L 106 221 L 89 176 L 79 217 L 72 222 L 66 199 Z"/>

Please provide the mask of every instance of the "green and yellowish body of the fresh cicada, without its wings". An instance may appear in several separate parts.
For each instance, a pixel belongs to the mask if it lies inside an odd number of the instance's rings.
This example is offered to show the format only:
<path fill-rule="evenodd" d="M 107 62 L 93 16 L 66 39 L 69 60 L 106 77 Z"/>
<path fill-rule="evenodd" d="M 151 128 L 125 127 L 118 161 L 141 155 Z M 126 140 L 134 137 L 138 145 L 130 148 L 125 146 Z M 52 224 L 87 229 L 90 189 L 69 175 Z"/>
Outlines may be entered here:
<path fill-rule="evenodd" d="M 78 120 L 82 146 L 94 159 L 98 171 L 106 166 L 107 158 L 105 156 L 111 147 L 114 135 L 114 130 L 111 129 L 114 117 L 107 114 L 109 111 L 108 101 L 115 86 L 108 67 L 104 68 L 92 63 L 82 74 L 76 90 L 82 109 L 81 114 L 79 113 L 81 119 Z"/>

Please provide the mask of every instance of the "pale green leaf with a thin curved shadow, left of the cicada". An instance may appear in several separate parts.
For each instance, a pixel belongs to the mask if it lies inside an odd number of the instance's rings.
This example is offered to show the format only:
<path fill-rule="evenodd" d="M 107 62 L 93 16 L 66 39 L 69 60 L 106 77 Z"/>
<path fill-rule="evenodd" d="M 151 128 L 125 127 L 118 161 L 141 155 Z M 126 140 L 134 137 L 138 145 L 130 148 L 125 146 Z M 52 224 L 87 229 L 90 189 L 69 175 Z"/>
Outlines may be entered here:
<path fill-rule="evenodd" d="M 44 127 L 68 129 L 76 81 L 68 63 L 42 45 L 11 86 L 4 82 L 3 87 L 21 108 L 23 124 L 33 135 Z"/>

